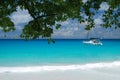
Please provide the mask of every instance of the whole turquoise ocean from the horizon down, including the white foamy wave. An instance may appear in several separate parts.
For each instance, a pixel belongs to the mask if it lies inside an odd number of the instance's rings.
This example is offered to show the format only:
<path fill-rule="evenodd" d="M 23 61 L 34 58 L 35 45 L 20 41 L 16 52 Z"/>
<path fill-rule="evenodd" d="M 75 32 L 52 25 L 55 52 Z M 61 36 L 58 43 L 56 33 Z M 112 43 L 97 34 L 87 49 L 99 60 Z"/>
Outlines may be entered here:
<path fill-rule="evenodd" d="M 1 39 L 0 73 L 94 69 L 120 66 L 120 40 L 84 44 L 83 39 Z"/>

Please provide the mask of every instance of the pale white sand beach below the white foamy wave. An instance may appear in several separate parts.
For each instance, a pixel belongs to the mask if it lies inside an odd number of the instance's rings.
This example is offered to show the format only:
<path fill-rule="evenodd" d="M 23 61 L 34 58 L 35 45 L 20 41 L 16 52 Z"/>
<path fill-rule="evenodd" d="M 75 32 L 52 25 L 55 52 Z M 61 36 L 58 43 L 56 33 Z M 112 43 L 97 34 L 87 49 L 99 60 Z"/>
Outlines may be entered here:
<path fill-rule="evenodd" d="M 1 80 L 120 80 L 120 69 L 0 73 Z"/>

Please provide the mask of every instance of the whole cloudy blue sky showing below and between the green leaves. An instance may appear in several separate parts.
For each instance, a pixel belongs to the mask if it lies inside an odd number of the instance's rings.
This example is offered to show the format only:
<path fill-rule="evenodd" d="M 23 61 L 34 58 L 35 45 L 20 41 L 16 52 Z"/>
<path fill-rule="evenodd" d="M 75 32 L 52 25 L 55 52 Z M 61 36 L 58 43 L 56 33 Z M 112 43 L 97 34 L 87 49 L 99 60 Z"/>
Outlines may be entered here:
<path fill-rule="evenodd" d="M 85 1 L 85 0 L 84 0 Z M 106 3 L 102 3 L 100 6 L 100 11 L 107 10 L 109 8 Z M 32 18 L 30 17 L 27 10 L 21 10 L 19 7 L 16 12 L 10 15 L 11 20 L 15 24 L 16 30 L 13 32 L 5 33 L 0 30 L 0 38 L 13 38 L 18 37 L 24 28 L 24 25 L 27 24 Z M 100 26 L 102 23 L 101 14 L 95 17 L 96 27 L 91 29 L 90 31 L 85 30 L 85 25 L 87 23 L 79 23 L 77 19 L 71 20 L 68 19 L 64 22 L 61 22 L 62 26 L 59 30 L 54 29 L 54 33 L 52 34 L 52 38 L 58 39 L 85 39 L 90 37 L 95 38 L 103 38 L 103 39 L 120 39 L 120 29 L 114 28 L 103 28 Z M 89 36 L 88 36 L 89 33 Z"/>

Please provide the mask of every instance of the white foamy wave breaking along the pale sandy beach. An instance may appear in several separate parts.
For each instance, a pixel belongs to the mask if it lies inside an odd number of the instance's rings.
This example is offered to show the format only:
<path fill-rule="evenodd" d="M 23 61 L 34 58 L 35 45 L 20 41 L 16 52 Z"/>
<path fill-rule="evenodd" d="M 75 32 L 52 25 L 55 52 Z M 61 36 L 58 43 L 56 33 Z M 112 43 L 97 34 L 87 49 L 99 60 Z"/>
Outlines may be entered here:
<path fill-rule="evenodd" d="M 65 65 L 65 66 L 29 66 L 29 67 L 0 67 L 0 73 L 9 72 L 40 72 L 40 71 L 54 71 L 54 70 L 89 70 L 100 68 L 113 68 L 119 67 L 120 61 L 109 63 L 91 63 L 84 65 Z"/>

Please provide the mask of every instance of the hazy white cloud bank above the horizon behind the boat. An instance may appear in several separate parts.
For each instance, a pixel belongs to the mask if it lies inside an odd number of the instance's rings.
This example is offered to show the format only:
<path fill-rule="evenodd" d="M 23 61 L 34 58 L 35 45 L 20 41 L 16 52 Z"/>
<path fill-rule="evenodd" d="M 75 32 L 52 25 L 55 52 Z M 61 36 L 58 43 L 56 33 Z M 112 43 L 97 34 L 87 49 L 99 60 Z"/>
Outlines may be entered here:
<path fill-rule="evenodd" d="M 115 30 L 114 28 L 103 28 L 99 26 L 102 23 L 100 18 L 95 19 L 96 27 L 91 29 L 90 31 L 86 31 L 85 25 L 87 23 L 79 24 L 77 21 L 65 21 L 63 22 L 64 26 L 62 26 L 59 30 L 54 30 L 53 38 L 72 38 L 72 39 L 80 39 L 80 38 L 120 38 L 120 29 Z M 89 36 L 87 36 L 89 33 Z"/>

